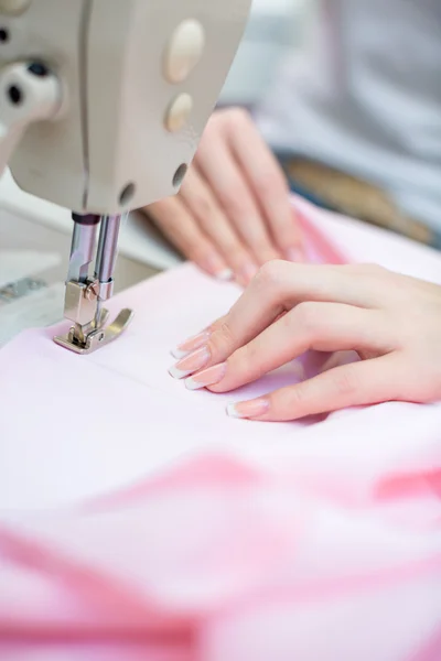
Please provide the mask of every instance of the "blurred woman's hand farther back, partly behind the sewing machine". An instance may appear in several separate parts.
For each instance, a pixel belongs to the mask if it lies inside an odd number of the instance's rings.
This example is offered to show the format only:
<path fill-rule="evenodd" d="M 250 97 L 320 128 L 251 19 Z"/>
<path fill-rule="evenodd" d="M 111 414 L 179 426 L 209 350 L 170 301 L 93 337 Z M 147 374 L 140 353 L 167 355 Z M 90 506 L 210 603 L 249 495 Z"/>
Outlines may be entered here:
<path fill-rule="evenodd" d="M 271 259 L 302 260 L 283 173 L 245 110 L 215 112 L 179 195 L 144 210 L 220 279 L 248 284 Z"/>

